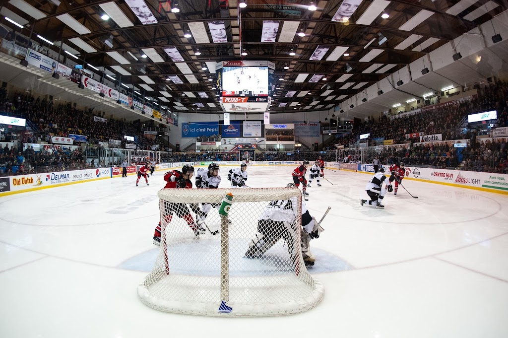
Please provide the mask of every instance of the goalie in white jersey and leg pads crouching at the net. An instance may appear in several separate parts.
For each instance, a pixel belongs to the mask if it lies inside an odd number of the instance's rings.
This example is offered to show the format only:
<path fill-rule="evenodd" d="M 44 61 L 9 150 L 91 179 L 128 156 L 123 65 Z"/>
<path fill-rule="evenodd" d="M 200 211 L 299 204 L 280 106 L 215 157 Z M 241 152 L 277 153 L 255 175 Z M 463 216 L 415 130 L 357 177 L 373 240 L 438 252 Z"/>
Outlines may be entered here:
<path fill-rule="evenodd" d="M 288 188 L 295 187 L 293 183 L 288 184 Z M 250 240 L 249 249 L 245 253 L 246 258 L 259 258 L 263 256 L 279 239 L 287 243 L 296 241 L 295 234 L 298 233 L 294 228 L 295 211 L 294 207 L 298 203 L 296 197 L 289 200 L 271 201 L 261 213 L 258 220 L 258 232 Z M 309 242 L 313 238 L 319 238 L 324 230 L 316 220 L 310 216 L 307 206 L 302 199 L 302 224 L 301 231 L 301 253 L 306 267 L 314 265 L 315 256 L 310 252 Z M 292 258 L 294 255 L 290 252 Z"/>

